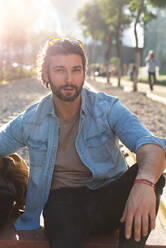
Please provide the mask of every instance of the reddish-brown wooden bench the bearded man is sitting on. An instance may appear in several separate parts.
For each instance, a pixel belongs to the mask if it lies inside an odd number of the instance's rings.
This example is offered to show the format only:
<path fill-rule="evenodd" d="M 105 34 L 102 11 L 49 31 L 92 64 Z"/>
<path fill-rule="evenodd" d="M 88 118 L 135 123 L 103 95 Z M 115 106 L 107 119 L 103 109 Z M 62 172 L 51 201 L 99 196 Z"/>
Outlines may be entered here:
<path fill-rule="evenodd" d="M 49 248 L 44 235 L 44 228 L 33 231 L 16 231 L 12 221 L 0 231 L 0 248 Z M 101 235 L 90 238 L 86 248 L 117 248 L 118 231 L 109 235 Z M 164 248 L 166 247 L 166 232 L 162 229 L 157 219 L 157 228 L 152 231 L 145 247 Z"/>

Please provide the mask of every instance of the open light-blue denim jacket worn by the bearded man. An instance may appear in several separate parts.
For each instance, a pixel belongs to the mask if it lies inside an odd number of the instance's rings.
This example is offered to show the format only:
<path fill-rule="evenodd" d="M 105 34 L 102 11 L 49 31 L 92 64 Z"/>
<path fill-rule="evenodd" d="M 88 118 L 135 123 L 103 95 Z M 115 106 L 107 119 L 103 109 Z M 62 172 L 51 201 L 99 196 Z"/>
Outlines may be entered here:
<path fill-rule="evenodd" d="M 115 180 L 127 169 L 119 150 L 119 139 L 132 152 L 146 143 L 166 150 L 164 139 L 153 136 L 124 107 L 118 98 L 82 90 L 76 150 L 92 172 L 87 187 L 94 190 Z M 30 172 L 24 214 L 17 230 L 40 227 L 40 214 L 48 199 L 58 148 L 59 119 L 54 113 L 52 94 L 32 105 L 0 130 L 0 154 L 29 148 Z"/>

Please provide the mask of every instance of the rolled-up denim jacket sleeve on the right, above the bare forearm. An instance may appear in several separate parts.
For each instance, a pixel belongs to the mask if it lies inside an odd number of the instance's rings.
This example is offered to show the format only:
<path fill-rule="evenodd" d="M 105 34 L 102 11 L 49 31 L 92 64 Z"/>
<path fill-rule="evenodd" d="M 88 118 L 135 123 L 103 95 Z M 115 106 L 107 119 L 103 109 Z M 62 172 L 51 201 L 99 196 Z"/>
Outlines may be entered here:
<path fill-rule="evenodd" d="M 136 115 L 130 112 L 120 101 L 116 101 L 109 114 L 109 124 L 114 134 L 132 152 L 144 144 L 156 144 L 166 152 L 166 140 L 156 137 L 146 129 Z"/>

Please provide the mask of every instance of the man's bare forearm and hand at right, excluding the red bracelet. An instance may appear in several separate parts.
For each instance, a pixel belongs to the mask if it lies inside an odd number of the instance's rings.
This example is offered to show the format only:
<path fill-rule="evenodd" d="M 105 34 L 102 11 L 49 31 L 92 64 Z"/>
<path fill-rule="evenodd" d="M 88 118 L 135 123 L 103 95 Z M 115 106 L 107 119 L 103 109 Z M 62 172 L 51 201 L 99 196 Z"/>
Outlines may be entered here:
<path fill-rule="evenodd" d="M 138 174 L 136 179 L 146 179 L 154 184 L 166 167 L 165 151 L 158 145 L 142 145 L 137 153 Z M 130 238 L 134 224 L 134 237 L 140 240 L 141 235 L 148 234 L 149 218 L 150 228 L 155 227 L 156 197 L 154 189 L 143 183 L 133 185 L 121 222 L 125 222 L 125 236 Z"/>

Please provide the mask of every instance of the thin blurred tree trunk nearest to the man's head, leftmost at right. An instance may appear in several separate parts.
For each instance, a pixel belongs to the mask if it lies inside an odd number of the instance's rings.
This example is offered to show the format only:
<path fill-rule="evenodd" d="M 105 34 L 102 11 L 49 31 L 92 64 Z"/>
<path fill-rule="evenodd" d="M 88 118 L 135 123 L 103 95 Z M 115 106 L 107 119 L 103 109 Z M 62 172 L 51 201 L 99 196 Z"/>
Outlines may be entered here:
<path fill-rule="evenodd" d="M 110 33 L 108 36 L 107 49 L 105 52 L 105 66 L 106 66 L 107 83 L 110 83 L 109 64 L 110 64 L 110 53 L 111 53 L 111 46 L 112 46 L 112 36 L 113 36 L 112 33 Z"/>

